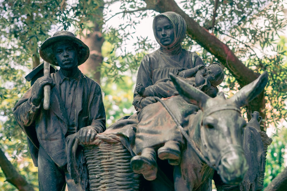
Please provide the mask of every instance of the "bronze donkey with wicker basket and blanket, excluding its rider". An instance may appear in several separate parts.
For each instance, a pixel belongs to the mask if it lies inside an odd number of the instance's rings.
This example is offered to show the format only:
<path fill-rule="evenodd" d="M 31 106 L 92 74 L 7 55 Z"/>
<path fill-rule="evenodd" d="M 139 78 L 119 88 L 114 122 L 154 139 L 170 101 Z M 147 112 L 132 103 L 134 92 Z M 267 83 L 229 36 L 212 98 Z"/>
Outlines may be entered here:
<path fill-rule="evenodd" d="M 185 139 L 179 165 L 171 166 L 173 176 L 169 186 L 151 186 L 150 183 L 165 182 L 158 172 L 154 181 L 146 181 L 130 167 L 138 121 L 136 114 L 125 117 L 96 136 L 92 145 L 84 147 L 89 170 L 89 188 L 86 190 L 212 190 L 212 178 L 216 171 L 224 184 L 240 184 L 248 170 L 248 162 L 243 150 L 243 132 L 246 121 L 241 116 L 240 107 L 254 99 L 268 81 L 264 72 L 254 82 L 244 86 L 233 97 L 226 99 L 223 93 L 211 98 L 201 90 L 187 84 L 170 74 L 170 78 L 180 96 L 170 98 L 169 102 L 158 102 L 146 106 L 148 111 L 166 112 Z M 196 113 L 190 113 L 182 123 L 178 113 L 173 113 L 169 103 L 181 97 L 186 104 L 199 107 Z M 168 116 L 166 115 L 166 116 Z M 156 120 L 157 116 L 154 116 Z M 174 125 L 172 124 L 172 125 Z M 75 136 L 75 139 L 77 137 Z M 76 141 L 77 142 L 77 141 Z M 78 143 L 81 144 L 81 143 Z M 75 145 L 72 150 L 75 152 Z M 256 151 L 256 148 L 254 152 Z M 75 182 L 85 182 L 79 178 L 77 164 L 73 164 L 72 151 L 68 148 L 68 169 L 72 171 Z M 117 161 L 118 160 L 118 161 Z M 72 161 L 72 162 L 71 162 Z M 161 160 L 158 159 L 158 162 Z M 261 164 L 259 164 L 261 165 Z M 78 176 L 75 176 L 78 175 Z M 146 181 L 144 184 L 143 181 Z M 87 182 L 87 181 L 86 181 Z M 172 185 L 172 186 L 170 186 Z M 87 186 L 87 184 L 85 184 Z M 248 189 L 249 190 L 249 189 Z"/>

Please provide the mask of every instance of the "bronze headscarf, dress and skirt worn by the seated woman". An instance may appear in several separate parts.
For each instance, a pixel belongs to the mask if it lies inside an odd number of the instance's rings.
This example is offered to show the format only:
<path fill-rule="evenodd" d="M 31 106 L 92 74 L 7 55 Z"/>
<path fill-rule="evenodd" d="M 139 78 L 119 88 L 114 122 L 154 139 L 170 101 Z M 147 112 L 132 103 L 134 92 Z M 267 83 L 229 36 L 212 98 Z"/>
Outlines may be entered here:
<path fill-rule="evenodd" d="M 174 29 L 174 41 L 167 46 L 160 43 L 156 35 L 156 21 L 161 17 L 166 17 Z M 186 23 L 177 13 L 165 12 L 157 15 L 153 21 L 154 36 L 160 44 L 160 48 L 151 54 L 144 56 L 139 66 L 137 83 L 141 83 L 145 88 L 152 86 L 160 81 L 168 81 L 169 73 L 178 74 L 179 71 L 194 68 L 198 65 L 205 65 L 201 58 L 195 53 L 181 47 L 181 42 L 185 38 Z M 160 95 L 172 96 L 176 94 L 174 90 L 166 90 L 167 86 L 157 88 L 153 96 Z M 148 88 L 147 88 L 148 89 Z M 174 120 L 166 111 L 161 103 L 153 103 L 144 108 L 141 102 L 144 97 L 134 92 L 133 105 L 138 111 L 138 125 L 135 138 L 135 154 L 139 154 L 145 147 L 157 149 L 168 140 L 178 141 L 183 144 L 182 135 L 174 123 Z M 179 121 L 184 124 L 188 114 L 196 112 L 195 105 L 188 104 L 182 97 L 176 96 L 165 101 L 170 110 L 177 115 Z"/>

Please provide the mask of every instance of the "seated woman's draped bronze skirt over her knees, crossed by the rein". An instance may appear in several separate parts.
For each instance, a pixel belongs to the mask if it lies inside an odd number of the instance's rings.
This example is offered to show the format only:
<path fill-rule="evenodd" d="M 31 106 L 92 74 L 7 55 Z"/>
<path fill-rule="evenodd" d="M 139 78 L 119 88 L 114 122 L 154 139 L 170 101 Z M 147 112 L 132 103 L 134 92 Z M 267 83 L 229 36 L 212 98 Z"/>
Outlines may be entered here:
<path fill-rule="evenodd" d="M 164 102 L 181 126 L 188 123 L 189 115 L 198 111 L 197 106 L 188 104 L 181 96 L 174 96 Z M 141 153 L 145 147 L 158 149 L 169 140 L 178 141 L 181 145 L 185 144 L 177 124 L 160 102 L 144 107 L 138 114 L 138 120 L 133 148 L 135 154 Z"/>

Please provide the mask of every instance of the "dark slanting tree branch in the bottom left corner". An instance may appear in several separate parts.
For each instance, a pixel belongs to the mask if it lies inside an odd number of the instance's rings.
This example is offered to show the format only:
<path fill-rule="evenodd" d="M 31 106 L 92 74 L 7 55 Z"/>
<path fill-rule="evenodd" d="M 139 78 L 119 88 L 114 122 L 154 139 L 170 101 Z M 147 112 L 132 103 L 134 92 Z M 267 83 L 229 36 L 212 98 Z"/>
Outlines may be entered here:
<path fill-rule="evenodd" d="M 6 177 L 6 180 L 20 191 L 32 191 L 33 186 L 29 184 L 23 176 L 21 176 L 11 162 L 5 156 L 5 153 L 0 149 L 0 166 Z"/>

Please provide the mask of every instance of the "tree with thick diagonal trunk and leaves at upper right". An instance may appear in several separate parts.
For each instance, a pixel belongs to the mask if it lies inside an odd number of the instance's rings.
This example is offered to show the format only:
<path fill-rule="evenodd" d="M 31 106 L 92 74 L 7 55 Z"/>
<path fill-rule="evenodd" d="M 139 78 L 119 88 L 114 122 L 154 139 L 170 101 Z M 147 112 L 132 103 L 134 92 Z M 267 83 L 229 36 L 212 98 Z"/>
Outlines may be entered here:
<path fill-rule="evenodd" d="M 286 66 L 283 67 L 282 62 L 279 61 L 282 61 L 282 58 L 279 58 L 282 52 L 259 57 L 260 52 L 265 53 L 269 49 L 276 51 L 272 44 L 274 36 L 278 35 L 278 31 L 286 25 L 281 1 L 182 1 L 183 9 L 174 0 L 145 0 L 144 2 L 124 1 L 123 16 L 128 13 L 135 14 L 137 10 L 141 11 L 139 15 L 142 16 L 146 15 L 143 10 L 179 13 L 187 23 L 189 41 L 195 41 L 212 54 L 215 60 L 226 67 L 227 76 L 235 78 L 241 87 L 255 80 L 263 70 L 269 70 L 270 74 L 280 78 L 284 76 Z M 260 20 L 263 20 L 264 24 L 256 25 Z M 261 47 L 256 47 L 257 44 Z M 255 52 L 253 50 L 255 48 L 259 48 L 260 52 Z M 249 62 L 243 63 L 241 60 L 246 60 L 246 57 L 250 58 Z M 271 68 L 266 66 L 268 64 L 263 63 L 265 59 L 277 64 L 279 71 L 270 70 Z M 277 85 L 282 83 L 283 81 Z M 284 97 L 282 89 L 278 92 L 280 97 Z M 284 107 L 284 104 L 282 106 Z M 248 117 L 253 111 L 259 111 L 266 121 L 263 93 L 247 105 Z M 266 130 L 265 124 L 262 130 Z"/>

